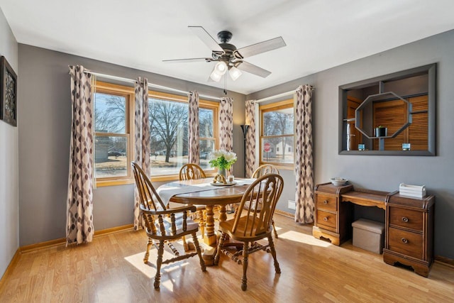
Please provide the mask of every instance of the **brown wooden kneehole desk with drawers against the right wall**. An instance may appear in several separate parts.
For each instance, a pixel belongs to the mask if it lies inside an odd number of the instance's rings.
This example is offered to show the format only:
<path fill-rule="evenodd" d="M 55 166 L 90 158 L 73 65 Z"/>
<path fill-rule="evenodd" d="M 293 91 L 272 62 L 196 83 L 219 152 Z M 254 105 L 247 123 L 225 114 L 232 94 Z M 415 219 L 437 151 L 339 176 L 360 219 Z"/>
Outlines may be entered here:
<path fill-rule="evenodd" d="M 316 215 L 312 234 L 341 245 L 351 238 L 353 204 L 375 206 L 385 211 L 385 243 L 383 260 L 402 263 L 428 276 L 433 263 L 433 214 L 435 197 L 413 198 L 396 192 L 353 189 L 348 184 L 336 187 L 331 183 L 315 187 Z"/>

